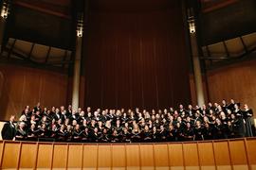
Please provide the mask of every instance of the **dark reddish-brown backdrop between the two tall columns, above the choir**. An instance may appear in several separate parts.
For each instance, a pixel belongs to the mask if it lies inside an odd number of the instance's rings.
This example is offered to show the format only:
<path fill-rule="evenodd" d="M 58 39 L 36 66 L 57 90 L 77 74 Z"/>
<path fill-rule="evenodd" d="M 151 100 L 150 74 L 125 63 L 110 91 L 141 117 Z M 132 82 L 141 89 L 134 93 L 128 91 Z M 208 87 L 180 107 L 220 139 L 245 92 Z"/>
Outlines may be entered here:
<path fill-rule="evenodd" d="M 85 106 L 151 110 L 187 104 L 184 31 L 179 0 L 150 10 L 92 10 L 84 34 Z"/>

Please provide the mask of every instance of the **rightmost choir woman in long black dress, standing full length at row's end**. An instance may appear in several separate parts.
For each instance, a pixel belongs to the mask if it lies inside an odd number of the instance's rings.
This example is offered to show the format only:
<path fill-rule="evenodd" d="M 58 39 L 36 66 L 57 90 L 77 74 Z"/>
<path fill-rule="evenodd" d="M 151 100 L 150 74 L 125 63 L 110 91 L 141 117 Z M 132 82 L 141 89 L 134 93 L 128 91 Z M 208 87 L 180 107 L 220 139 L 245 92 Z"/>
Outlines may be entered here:
<path fill-rule="evenodd" d="M 247 104 L 245 104 L 243 110 L 243 117 L 245 120 L 245 127 L 246 127 L 246 137 L 252 137 L 253 136 L 253 130 L 255 129 L 253 124 L 253 112 L 251 109 L 248 108 Z"/>

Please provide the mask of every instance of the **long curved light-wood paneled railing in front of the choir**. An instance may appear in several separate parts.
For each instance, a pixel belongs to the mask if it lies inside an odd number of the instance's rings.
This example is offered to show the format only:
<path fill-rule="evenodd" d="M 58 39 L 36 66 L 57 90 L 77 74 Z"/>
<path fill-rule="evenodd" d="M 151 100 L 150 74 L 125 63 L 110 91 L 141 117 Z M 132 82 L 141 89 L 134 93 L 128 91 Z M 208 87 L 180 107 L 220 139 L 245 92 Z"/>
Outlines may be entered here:
<path fill-rule="evenodd" d="M 256 138 L 162 144 L 0 141 L 0 169 L 256 169 Z"/>

